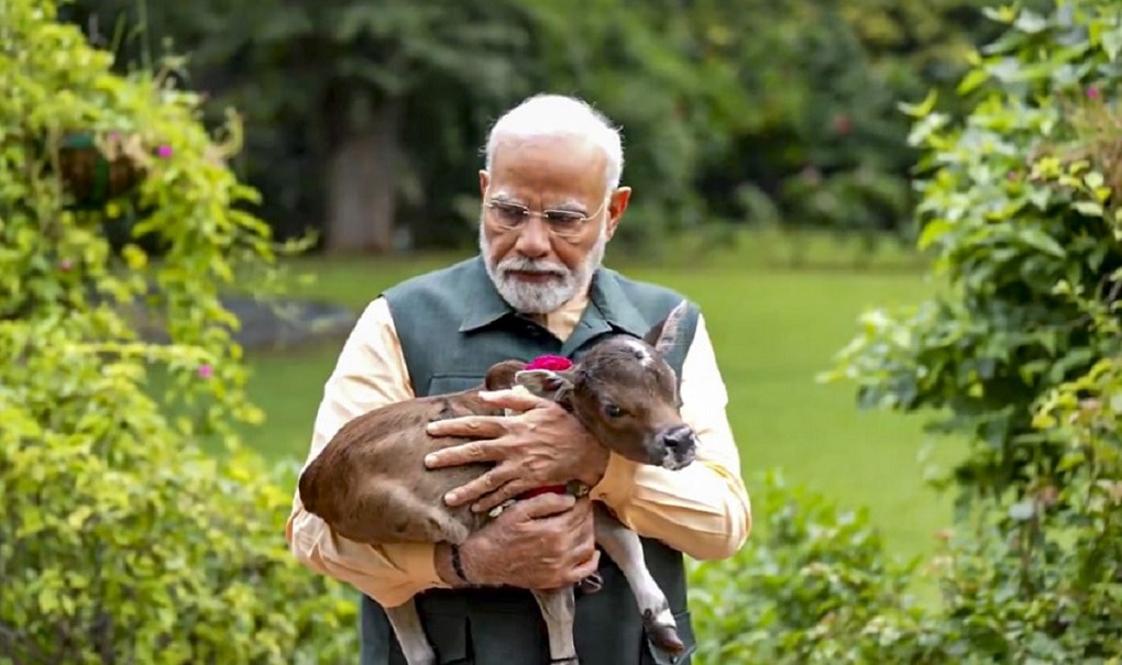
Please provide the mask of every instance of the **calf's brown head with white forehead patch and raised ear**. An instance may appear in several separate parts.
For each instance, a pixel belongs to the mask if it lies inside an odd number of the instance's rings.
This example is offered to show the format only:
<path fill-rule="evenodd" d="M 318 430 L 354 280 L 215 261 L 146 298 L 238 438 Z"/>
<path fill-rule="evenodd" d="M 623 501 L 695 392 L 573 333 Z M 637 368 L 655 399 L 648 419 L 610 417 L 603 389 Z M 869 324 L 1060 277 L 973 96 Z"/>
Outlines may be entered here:
<path fill-rule="evenodd" d="M 671 470 L 697 453 L 682 422 L 678 380 L 665 360 L 686 314 L 678 305 L 642 340 L 619 335 L 600 342 L 570 369 L 526 369 L 514 382 L 565 406 L 605 446 L 628 460 Z"/>

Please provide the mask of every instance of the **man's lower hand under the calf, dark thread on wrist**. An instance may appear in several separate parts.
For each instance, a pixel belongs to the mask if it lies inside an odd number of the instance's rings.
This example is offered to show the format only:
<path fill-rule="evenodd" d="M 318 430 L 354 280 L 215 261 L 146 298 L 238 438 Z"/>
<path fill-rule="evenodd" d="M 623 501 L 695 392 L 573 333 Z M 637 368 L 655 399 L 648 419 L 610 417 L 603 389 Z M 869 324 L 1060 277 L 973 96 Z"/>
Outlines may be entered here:
<path fill-rule="evenodd" d="M 596 572 L 600 553 L 594 538 L 590 499 L 540 495 L 471 534 L 460 546 L 460 561 L 471 584 L 560 589 Z M 440 552 L 438 572 L 453 587 L 462 585 Z"/>

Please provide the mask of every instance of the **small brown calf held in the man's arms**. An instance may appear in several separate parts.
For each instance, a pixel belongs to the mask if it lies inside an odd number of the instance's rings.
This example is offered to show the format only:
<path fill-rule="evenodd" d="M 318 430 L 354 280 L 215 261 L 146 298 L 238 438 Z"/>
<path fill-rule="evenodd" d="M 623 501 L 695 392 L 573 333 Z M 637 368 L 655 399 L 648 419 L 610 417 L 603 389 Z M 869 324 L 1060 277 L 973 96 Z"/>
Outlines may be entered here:
<path fill-rule="evenodd" d="M 601 445 L 624 458 L 682 469 L 693 461 L 697 442 L 679 414 L 677 379 L 663 354 L 673 347 L 684 313 L 681 303 L 643 340 L 607 339 L 568 370 L 524 370 L 522 362 L 500 362 L 487 373 L 485 387 L 524 386 L 565 407 Z M 462 544 L 490 516 L 473 512 L 470 506 L 449 508 L 443 497 L 493 464 L 426 469 L 426 453 L 467 440 L 430 436 L 425 425 L 467 415 L 500 415 L 484 405 L 478 392 L 477 388 L 410 399 L 343 425 L 301 474 L 305 508 L 359 543 Z M 594 508 L 596 542 L 627 579 L 652 640 L 680 653 L 677 624 L 665 594 L 646 570 L 638 535 L 603 505 Z M 552 662 L 576 665 L 572 587 L 532 592 L 545 619 Z M 410 665 L 434 664 L 413 601 L 386 608 L 386 613 Z"/>

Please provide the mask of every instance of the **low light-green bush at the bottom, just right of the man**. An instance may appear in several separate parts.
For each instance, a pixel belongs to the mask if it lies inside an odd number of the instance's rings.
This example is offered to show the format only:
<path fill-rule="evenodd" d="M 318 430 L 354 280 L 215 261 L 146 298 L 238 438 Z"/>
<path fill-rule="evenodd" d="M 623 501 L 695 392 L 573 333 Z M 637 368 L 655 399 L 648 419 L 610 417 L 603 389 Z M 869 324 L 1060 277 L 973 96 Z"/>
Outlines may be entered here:
<path fill-rule="evenodd" d="M 749 544 L 732 560 L 691 564 L 698 665 L 862 662 L 862 653 L 882 662 L 873 647 L 891 635 L 888 618 L 920 616 L 907 590 L 917 564 L 889 557 L 864 510 L 774 472 L 753 484 L 752 501 L 762 519 Z"/>

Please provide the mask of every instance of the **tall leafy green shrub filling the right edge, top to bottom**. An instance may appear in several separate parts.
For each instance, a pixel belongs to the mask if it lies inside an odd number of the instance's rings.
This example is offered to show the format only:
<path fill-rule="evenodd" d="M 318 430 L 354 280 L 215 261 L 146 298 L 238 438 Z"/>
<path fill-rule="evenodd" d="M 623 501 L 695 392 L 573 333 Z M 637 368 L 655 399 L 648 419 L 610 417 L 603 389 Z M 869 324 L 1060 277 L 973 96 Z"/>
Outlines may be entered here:
<path fill-rule="evenodd" d="M 1102 663 L 1122 653 L 1122 7 L 986 13 L 1006 31 L 962 80 L 973 111 L 911 109 L 941 293 L 867 314 L 833 376 L 969 443 L 941 481 L 959 498 L 946 648 Z"/>

